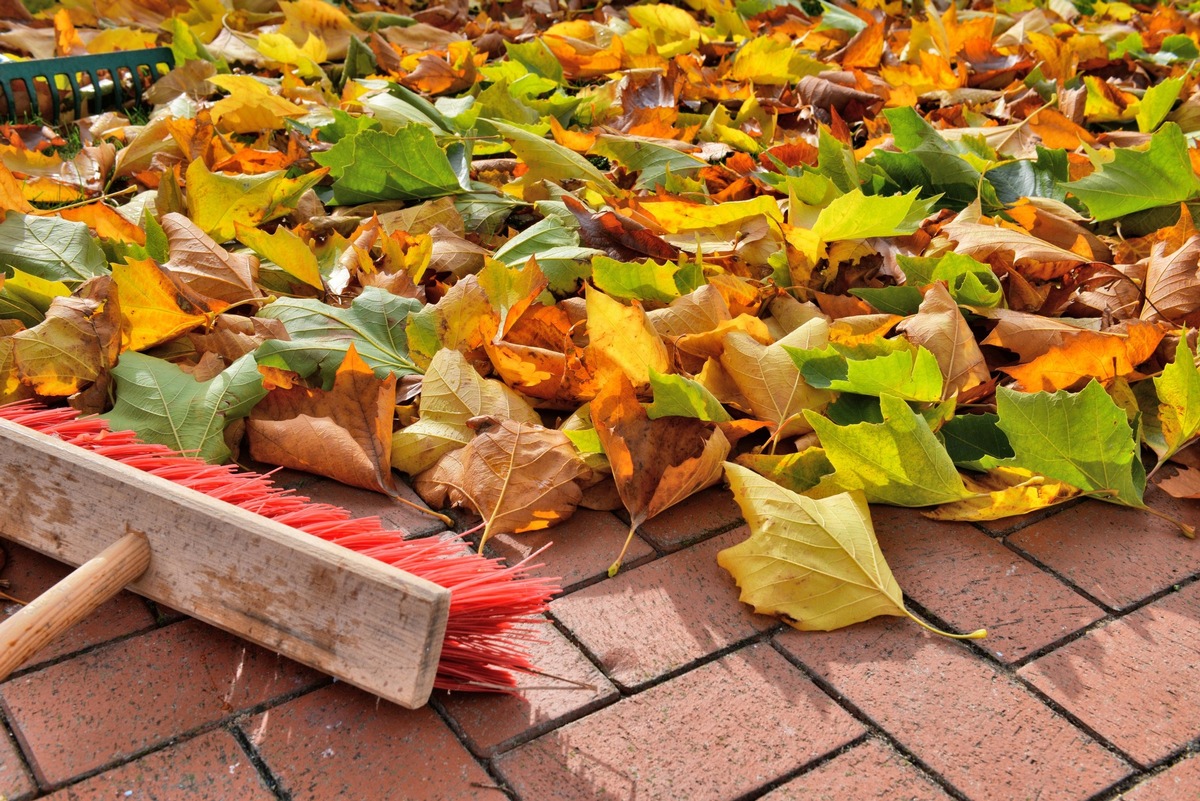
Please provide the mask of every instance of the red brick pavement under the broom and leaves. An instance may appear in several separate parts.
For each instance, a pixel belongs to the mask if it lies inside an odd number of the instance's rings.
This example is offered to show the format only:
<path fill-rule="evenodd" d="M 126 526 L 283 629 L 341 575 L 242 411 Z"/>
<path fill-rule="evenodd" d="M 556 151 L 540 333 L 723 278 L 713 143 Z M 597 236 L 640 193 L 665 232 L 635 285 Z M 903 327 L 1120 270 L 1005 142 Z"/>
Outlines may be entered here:
<path fill-rule="evenodd" d="M 536 654 L 574 683 L 516 697 L 403 710 L 124 595 L 0 685 L 0 799 L 1200 797 L 1200 542 L 1096 501 L 988 526 L 874 516 L 910 607 L 988 639 L 754 615 L 714 560 L 745 529 L 709 490 L 647 524 L 614 579 L 610 513 L 493 541 L 553 541 L 565 577 Z M 65 573 L 8 553 L 18 597 Z"/>

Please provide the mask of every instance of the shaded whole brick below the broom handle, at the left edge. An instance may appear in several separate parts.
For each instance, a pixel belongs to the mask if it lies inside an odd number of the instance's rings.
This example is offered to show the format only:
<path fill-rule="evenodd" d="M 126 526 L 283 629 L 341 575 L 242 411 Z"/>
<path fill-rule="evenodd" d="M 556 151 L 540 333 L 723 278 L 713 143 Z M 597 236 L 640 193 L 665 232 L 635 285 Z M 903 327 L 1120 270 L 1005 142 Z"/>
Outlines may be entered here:
<path fill-rule="evenodd" d="M 10 680 L 0 700 L 37 777 L 60 784 L 323 680 L 187 620 Z"/>

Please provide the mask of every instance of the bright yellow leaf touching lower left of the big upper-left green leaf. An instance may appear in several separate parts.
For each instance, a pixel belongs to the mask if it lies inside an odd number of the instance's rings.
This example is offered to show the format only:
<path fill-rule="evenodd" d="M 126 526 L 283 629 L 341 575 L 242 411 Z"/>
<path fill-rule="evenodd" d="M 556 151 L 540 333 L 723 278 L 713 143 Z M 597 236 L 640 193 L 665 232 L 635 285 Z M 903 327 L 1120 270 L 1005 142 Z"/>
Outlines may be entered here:
<path fill-rule="evenodd" d="M 287 177 L 283 170 L 226 175 L 210 173 L 197 158 L 187 167 L 187 216 L 217 242 L 228 242 L 239 223 L 257 228 L 295 209 L 300 195 L 326 173 L 323 167 L 296 179 Z"/>

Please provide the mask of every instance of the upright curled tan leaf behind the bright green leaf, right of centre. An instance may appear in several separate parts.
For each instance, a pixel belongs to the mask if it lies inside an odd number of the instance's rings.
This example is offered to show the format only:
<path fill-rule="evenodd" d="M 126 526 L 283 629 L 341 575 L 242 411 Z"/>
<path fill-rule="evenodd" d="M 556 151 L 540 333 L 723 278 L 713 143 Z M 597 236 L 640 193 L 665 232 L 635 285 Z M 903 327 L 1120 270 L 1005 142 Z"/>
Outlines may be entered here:
<path fill-rule="evenodd" d="M 946 284 L 937 282 L 926 289 L 917 314 L 896 327 L 934 354 L 946 378 L 942 398 L 979 386 L 991 377 L 971 326 Z"/>

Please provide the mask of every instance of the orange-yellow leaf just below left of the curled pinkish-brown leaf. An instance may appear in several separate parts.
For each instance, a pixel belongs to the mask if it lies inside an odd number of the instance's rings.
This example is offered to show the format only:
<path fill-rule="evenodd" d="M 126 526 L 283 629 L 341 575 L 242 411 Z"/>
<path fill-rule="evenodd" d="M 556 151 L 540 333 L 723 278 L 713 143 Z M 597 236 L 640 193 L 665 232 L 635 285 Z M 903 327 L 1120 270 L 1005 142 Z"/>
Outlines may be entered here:
<path fill-rule="evenodd" d="M 121 301 L 122 350 L 145 350 L 204 325 L 228 307 L 203 299 L 151 259 L 113 265 Z"/>

